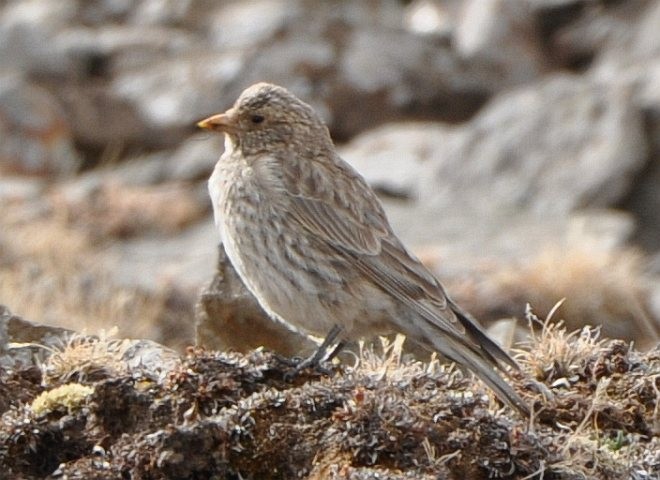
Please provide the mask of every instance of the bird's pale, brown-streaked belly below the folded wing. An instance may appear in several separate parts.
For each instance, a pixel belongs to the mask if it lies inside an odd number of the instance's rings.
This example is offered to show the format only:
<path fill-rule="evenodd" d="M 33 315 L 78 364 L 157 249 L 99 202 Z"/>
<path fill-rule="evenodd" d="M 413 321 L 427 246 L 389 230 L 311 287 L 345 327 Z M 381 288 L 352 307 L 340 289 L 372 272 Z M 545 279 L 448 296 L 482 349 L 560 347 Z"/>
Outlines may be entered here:
<path fill-rule="evenodd" d="M 233 202 L 219 226 L 227 256 L 264 310 L 306 335 L 323 337 L 334 325 L 351 337 L 371 332 L 369 319 L 376 320 L 379 310 L 384 318 L 389 299 L 362 285 L 346 259 L 261 200 Z"/>

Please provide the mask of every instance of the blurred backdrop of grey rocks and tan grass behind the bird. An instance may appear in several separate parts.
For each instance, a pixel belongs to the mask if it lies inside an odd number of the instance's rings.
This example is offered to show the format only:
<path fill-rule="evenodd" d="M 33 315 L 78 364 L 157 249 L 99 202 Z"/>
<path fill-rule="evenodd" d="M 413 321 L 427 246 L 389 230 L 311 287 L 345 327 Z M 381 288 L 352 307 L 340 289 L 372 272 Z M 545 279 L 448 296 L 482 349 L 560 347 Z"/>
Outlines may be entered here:
<path fill-rule="evenodd" d="M 191 344 L 223 149 L 195 123 L 257 81 L 485 324 L 566 298 L 657 343 L 657 0 L 0 0 L 0 304 Z"/>

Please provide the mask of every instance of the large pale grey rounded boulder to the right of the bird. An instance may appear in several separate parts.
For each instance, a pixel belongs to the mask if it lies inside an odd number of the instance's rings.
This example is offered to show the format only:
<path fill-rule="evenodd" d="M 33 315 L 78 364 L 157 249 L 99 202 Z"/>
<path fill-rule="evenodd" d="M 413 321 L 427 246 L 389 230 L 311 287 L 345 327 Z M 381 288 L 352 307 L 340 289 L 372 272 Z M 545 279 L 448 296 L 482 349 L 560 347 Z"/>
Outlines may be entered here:
<path fill-rule="evenodd" d="M 632 94 L 558 75 L 499 96 L 435 151 L 421 200 L 544 215 L 616 205 L 647 155 Z"/>

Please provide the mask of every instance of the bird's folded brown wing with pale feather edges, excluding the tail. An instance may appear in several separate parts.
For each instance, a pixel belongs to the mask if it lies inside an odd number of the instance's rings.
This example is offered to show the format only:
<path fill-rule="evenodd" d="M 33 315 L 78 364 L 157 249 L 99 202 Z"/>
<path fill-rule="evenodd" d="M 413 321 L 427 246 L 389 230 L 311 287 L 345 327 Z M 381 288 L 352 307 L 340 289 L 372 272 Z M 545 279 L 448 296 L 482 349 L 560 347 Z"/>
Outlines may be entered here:
<path fill-rule="evenodd" d="M 288 178 L 289 214 L 427 321 L 447 332 L 465 333 L 442 286 L 394 235 L 364 179 L 337 160 L 328 166 L 314 165 L 317 170 L 306 178 L 299 174 Z"/>

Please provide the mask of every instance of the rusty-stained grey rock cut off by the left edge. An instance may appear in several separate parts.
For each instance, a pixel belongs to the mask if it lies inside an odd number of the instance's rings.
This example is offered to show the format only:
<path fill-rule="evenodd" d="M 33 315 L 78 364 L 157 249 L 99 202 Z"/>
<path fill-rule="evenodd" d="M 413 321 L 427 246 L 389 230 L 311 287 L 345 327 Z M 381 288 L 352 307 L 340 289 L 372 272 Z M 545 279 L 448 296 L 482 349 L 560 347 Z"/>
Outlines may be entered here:
<path fill-rule="evenodd" d="M 70 175 L 80 164 L 58 102 L 18 75 L 0 76 L 0 172 Z"/>

